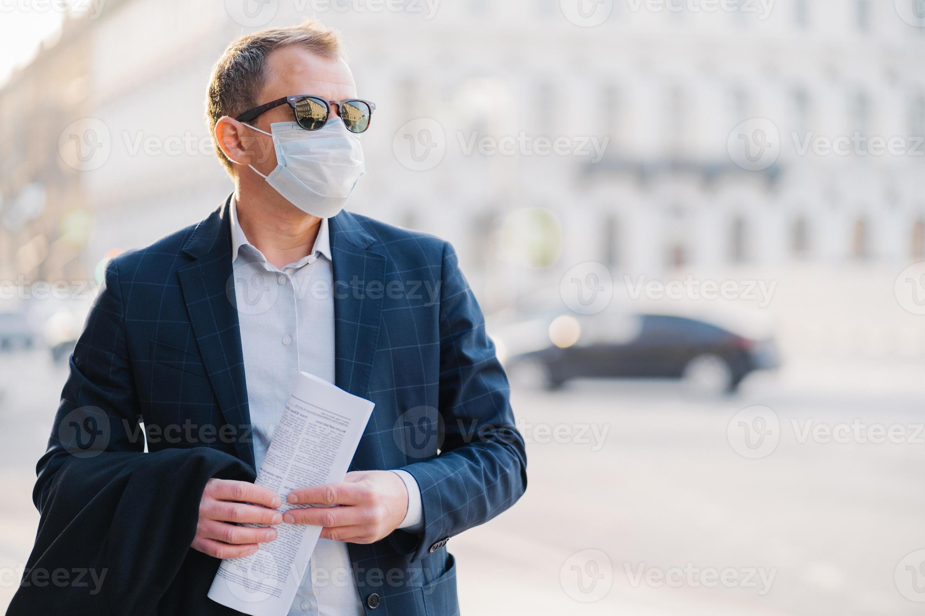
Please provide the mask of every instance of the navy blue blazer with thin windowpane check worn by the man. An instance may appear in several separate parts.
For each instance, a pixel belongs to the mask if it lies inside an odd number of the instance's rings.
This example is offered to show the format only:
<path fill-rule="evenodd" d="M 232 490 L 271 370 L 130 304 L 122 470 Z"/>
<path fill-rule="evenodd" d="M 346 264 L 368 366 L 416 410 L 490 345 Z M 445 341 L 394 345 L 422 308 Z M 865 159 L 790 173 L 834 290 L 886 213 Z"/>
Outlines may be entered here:
<path fill-rule="evenodd" d="M 347 211 L 329 232 L 337 384 L 376 403 L 351 470 L 411 473 L 425 524 L 421 534 L 350 544 L 353 574 L 367 613 L 449 616 L 459 607 L 447 540 L 526 488 L 508 382 L 448 243 Z M 253 466 L 232 276 L 228 200 L 110 261 L 56 425 L 92 406 L 108 422 L 106 451 L 142 451 L 141 420 L 152 453 L 215 447 Z M 216 437 L 222 429 L 235 437 Z M 40 509 L 67 455 L 53 431 L 38 466 Z"/>

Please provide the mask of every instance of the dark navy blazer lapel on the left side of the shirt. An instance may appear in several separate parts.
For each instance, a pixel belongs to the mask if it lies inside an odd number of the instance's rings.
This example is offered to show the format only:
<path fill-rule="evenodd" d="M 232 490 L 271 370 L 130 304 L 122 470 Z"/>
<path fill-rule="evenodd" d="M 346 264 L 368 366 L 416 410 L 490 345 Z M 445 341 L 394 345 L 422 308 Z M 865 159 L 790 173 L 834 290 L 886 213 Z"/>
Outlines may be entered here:
<path fill-rule="evenodd" d="M 205 371 L 225 421 L 234 429 L 238 457 L 253 466 L 253 445 L 245 438 L 251 413 L 235 306 L 229 203 L 230 197 L 193 231 L 183 247 L 193 260 L 179 270 L 179 282 Z"/>

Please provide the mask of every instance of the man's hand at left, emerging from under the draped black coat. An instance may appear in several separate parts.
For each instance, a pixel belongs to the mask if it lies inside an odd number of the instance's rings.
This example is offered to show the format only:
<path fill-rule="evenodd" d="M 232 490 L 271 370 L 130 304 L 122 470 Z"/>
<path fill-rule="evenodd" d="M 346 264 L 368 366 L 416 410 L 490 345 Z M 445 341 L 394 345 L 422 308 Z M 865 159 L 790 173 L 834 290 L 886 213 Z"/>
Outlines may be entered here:
<path fill-rule="evenodd" d="M 281 524 L 283 516 L 276 510 L 282 503 L 278 494 L 247 481 L 209 479 L 199 502 L 192 548 L 221 559 L 250 556 L 259 549 L 258 543 L 277 538 L 276 529 L 230 523 Z"/>

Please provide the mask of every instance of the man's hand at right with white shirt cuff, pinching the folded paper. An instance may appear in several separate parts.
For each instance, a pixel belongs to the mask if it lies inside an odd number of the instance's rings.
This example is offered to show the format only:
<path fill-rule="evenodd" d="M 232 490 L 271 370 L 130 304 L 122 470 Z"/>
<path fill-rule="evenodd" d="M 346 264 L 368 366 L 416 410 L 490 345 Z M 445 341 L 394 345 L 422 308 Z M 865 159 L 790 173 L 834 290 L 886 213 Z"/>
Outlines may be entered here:
<path fill-rule="evenodd" d="M 323 526 L 321 537 L 373 543 L 398 528 L 408 513 L 408 489 L 391 471 L 354 471 L 341 483 L 294 489 L 292 504 L 341 505 L 290 509 L 287 524 Z"/>

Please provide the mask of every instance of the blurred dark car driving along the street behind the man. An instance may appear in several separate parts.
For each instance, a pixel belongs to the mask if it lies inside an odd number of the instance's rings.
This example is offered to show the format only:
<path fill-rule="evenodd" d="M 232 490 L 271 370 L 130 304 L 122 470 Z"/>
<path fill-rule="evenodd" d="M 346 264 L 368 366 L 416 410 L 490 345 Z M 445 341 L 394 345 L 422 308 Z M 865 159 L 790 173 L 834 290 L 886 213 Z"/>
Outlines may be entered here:
<path fill-rule="evenodd" d="M 563 315 L 549 339 L 506 362 L 512 381 L 556 389 L 585 378 L 684 379 L 697 393 L 732 393 L 749 373 L 778 367 L 771 339 L 673 315 Z"/>

